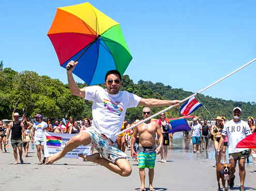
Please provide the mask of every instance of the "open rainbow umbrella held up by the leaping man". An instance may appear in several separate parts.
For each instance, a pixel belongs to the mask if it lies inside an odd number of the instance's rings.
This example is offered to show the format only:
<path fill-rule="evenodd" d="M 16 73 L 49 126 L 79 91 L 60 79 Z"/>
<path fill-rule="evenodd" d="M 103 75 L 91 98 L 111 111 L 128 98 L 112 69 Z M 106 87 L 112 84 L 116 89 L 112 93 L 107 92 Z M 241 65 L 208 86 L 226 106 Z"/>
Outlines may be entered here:
<path fill-rule="evenodd" d="M 72 72 L 88 85 L 102 84 L 109 70 L 123 75 L 132 59 L 119 23 L 89 3 L 57 8 L 47 35 L 63 68 L 79 59 Z"/>

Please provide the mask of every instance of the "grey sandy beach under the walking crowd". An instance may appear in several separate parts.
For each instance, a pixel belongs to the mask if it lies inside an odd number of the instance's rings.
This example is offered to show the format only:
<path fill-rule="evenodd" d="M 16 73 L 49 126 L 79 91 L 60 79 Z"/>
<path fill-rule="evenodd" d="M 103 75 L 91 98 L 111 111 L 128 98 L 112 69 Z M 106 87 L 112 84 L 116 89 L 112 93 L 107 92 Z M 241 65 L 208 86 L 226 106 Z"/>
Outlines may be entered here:
<path fill-rule="evenodd" d="M 160 163 L 157 156 L 153 186 L 156 190 L 217 190 L 214 149 L 209 152 L 192 153 L 191 144 L 182 141 L 182 134 L 175 133 L 173 145 L 168 150 L 167 163 Z M 100 165 L 79 159 L 62 158 L 52 165 L 37 165 L 36 149 L 29 147 L 29 157 L 23 157 L 24 164 L 14 162 L 11 146 L 7 153 L 0 153 L 0 190 L 137 190 L 140 188 L 138 163 L 126 151 L 132 166 L 129 177 L 120 177 Z M 24 153 L 23 153 L 24 155 Z M 19 161 L 20 162 L 20 161 Z M 256 165 L 246 166 L 246 190 L 256 190 Z M 235 186 L 239 190 L 238 165 Z M 146 169 L 146 189 L 148 170 Z"/>

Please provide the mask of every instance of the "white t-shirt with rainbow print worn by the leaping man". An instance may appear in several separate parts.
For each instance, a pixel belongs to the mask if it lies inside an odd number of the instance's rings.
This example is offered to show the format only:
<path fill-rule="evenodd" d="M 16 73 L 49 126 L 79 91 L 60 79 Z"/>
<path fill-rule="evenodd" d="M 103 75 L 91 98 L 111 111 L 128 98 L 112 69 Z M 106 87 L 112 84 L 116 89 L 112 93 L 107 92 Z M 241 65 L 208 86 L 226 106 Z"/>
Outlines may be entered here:
<path fill-rule="evenodd" d="M 109 94 L 100 86 L 85 87 L 85 99 L 93 101 L 93 125 L 100 133 L 115 141 L 120 132 L 127 108 L 137 107 L 141 101 L 138 95 L 128 91 Z"/>

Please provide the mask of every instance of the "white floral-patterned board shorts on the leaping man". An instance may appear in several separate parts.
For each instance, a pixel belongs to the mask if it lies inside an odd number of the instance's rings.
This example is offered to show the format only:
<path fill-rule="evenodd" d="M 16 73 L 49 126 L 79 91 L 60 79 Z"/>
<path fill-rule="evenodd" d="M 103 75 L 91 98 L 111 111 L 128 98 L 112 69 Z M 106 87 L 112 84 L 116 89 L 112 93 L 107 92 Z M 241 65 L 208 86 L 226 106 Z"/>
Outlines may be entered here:
<path fill-rule="evenodd" d="M 90 127 L 84 131 L 91 136 L 88 146 L 95 148 L 108 161 L 115 163 L 118 158 L 127 158 L 127 155 L 117 148 L 115 142 L 101 134 L 96 128 Z"/>

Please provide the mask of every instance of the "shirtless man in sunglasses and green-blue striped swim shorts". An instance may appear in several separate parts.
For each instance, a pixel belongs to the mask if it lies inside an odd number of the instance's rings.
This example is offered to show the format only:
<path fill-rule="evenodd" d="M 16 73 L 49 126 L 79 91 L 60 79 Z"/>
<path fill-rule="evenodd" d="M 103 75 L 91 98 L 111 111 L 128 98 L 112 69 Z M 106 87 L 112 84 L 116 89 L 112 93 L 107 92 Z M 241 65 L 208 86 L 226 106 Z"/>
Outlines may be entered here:
<path fill-rule="evenodd" d="M 144 107 L 142 110 L 143 119 L 148 118 L 151 115 L 150 109 Z M 133 149 L 135 144 L 135 137 L 139 133 L 140 142 L 139 142 L 139 173 L 141 179 L 141 188 L 140 191 L 146 190 L 145 188 L 145 168 L 148 168 L 148 177 L 149 177 L 149 190 L 155 190 L 152 186 L 154 178 L 154 167 L 156 161 L 156 155 L 160 153 L 163 145 L 163 135 L 161 133 L 160 126 L 158 122 L 151 121 L 150 119 L 144 123 L 135 126 L 133 131 L 133 136 L 131 139 L 131 156 L 136 154 Z M 156 148 L 155 145 L 155 134 L 157 133 L 159 137 L 159 146 Z"/>

